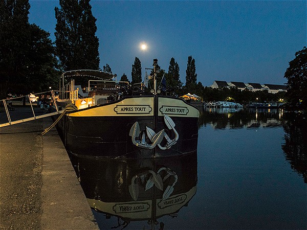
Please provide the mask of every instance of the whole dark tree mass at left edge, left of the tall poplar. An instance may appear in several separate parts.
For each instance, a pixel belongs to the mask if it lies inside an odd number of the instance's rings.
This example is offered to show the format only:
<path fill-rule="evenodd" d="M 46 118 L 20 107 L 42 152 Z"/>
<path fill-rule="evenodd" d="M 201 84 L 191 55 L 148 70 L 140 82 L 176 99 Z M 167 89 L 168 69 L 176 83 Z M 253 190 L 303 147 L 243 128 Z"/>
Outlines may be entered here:
<path fill-rule="evenodd" d="M 28 0 L 0 2 L 0 89 L 29 94 L 53 86 L 57 61 L 50 34 L 29 24 Z"/>

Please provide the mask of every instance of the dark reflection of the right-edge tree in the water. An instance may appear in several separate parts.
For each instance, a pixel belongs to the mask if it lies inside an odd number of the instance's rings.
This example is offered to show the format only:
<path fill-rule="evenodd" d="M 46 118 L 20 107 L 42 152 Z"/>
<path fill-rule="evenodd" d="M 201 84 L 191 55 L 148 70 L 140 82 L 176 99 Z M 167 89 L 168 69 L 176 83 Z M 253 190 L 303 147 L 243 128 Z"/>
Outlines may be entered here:
<path fill-rule="evenodd" d="M 301 174 L 307 183 L 307 121 L 300 114 L 289 114 L 283 129 L 285 143 L 282 150 L 291 168 Z"/>

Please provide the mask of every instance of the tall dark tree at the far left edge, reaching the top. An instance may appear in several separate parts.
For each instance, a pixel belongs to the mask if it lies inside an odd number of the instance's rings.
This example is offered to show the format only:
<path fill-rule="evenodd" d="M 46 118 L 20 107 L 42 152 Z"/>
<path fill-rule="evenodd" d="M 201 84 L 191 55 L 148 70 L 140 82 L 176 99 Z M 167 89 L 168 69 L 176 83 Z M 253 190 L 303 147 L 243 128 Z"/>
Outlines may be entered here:
<path fill-rule="evenodd" d="M 28 0 L 0 2 L 0 84 L 5 98 L 8 90 L 15 90 L 16 83 L 26 79 L 30 4 Z"/>

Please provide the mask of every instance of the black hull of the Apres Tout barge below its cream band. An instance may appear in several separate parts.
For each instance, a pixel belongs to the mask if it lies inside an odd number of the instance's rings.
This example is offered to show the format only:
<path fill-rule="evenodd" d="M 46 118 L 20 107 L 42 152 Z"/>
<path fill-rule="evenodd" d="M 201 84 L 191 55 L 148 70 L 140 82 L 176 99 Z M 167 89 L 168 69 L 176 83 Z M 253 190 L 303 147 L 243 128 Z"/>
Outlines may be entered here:
<path fill-rule="evenodd" d="M 125 116 L 119 116 L 118 114 L 116 116 L 65 115 L 57 124 L 57 129 L 67 151 L 79 155 L 112 158 L 152 158 L 181 155 L 196 151 L 198 143 L 198 117 L 195 116 L 171 117 L 174 124 L 176 124 L 175 128 L 179 134 L 179 139 L 170 149 L 162 150 L 159 146 L 153 149 L 146 149 L 133 144 L 131 141 L 133 137 L 129 135 L 129 132 L 136 122 L 138 122 L 141 131 L 146 130 L 146 126 L 156 130 L 156 132 L 164 129 L 170 139 L 174 138 L 175 134 L 165 124 L 163 115 L 161 116 L 160 114 L 158 116 L 157 100 L 153 100 L 155 104 L 151 105 L 154 110 L 152 116 L 148 116 L 148 114 L 145 114 L 145 116 L 144 114 L 125 114 Z M 181 104 L 184 103 L 179 99 L 172 100 Z M 125 100 L 122 102 L 124 103 Z M 103 106 L 100 107 L 103 109 Z M 162 105 L 160 105 L 160 110 L 161 107 Z M 186 104 L 186 107 L 190 110 L 196 109 L 188 104 Z M 146 141 L 148 142 L 148 137 Z M 164 139 L 161 142 L 161 146 L 166 144 Z"/>

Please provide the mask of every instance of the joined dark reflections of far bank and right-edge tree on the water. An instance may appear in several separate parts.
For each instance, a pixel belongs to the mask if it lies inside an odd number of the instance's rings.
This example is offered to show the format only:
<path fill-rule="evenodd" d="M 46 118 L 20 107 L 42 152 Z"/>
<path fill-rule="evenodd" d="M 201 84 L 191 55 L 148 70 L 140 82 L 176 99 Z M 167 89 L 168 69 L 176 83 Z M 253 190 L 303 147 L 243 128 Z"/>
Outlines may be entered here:
<path fill-rule="evenodd" d="M 282 109 L 207 108 L 201 112 L 200 128 L 207 125 L 213 129 L 283 127 L 285 134 L 281 146 L 286 160 L 307 183 L 306 120 L 302 114 L 291 114 Z"/>

